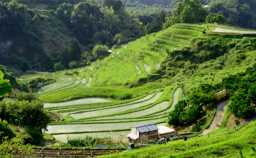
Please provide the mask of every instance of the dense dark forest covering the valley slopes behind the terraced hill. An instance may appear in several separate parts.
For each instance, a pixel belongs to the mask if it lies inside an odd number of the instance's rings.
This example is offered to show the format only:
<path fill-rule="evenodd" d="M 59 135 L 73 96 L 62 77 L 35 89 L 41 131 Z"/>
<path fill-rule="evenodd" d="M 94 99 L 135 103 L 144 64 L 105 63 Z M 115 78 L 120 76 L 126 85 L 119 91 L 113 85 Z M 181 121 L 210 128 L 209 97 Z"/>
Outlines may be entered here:
<path fill-rule="evenodd" d="M 152 12 L 136 10 L 149 6 Z M 161 11 L 164 6 L 176 8 Z M 175 23 L 255 29 L 255 7 L 251 0 L 0 0 L 0 64 L 15 75 L 54 70 L 55 63 L 82 67 L 97 60 L 96 45 L 115 49 Z"/>

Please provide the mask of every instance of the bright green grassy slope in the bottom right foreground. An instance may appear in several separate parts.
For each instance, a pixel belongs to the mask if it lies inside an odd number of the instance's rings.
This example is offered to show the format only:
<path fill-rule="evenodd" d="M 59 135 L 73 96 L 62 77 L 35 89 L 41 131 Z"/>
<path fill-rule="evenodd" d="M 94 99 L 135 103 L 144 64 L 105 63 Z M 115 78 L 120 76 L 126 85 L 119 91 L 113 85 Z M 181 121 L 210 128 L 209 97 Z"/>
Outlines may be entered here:
<path fill-rule="evenodd" d="M 104 158 L 215 158 L 219 155 L 223 157 L 238 157 L 239 148 L 242 148 L 244 155 L 253 155 L 251 143 L 256 141 L 256 122 L 251 122 L 245 127 L 232 134 L 216 137 L 195 137 L 187 141 L 170 141 L 162 145 L 152 145 L 144 149 L 131 150 L 115 155 L 104 155 Z"/>

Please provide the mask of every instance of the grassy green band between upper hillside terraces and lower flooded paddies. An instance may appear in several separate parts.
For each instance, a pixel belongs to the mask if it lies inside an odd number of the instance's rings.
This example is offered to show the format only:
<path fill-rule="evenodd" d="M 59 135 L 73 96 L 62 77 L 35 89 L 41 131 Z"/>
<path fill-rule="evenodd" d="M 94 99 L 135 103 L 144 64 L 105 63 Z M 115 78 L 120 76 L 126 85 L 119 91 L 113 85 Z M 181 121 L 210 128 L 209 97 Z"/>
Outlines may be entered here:
<path fill-rule="evenodd" d="M 143 86 L 129 88 L 119 86 L 93 86 L 93 87 L 78 87 L 72 91 L 62 90 L 51 95 L 42 94 L 39 96 L 43 102 L 64 102 L 68 100 L 81 99 L 87 97 L 111 98 L 116 100 L 131 99 L 156 91 L 163 90 L 168 85 L 168 81 L 163 81 L 162 84 L 150 82 Z M 86 93 L 84 93 L 86 91 Z"/>

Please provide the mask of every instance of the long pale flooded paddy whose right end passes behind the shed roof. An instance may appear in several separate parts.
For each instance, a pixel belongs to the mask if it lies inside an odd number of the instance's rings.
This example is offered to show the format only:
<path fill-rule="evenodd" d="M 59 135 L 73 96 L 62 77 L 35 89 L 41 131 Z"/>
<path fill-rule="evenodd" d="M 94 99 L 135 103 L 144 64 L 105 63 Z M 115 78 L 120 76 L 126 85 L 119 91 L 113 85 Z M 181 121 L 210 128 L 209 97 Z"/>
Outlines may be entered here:
<path fill-rule="evenodd" d="M 113 131 L 130 129 L 130 127 L 137 125 L 146 125 L 150 123 L 163 122 L 166 118 L 146 120 L 139 122 L 125 122 L 125 123 L 92 123 L 92 124 L 75 124 L 75 125 L 48 125 L 46 133 L 72 133 L 72 132 L 85 132 L 85 131 Z"/>

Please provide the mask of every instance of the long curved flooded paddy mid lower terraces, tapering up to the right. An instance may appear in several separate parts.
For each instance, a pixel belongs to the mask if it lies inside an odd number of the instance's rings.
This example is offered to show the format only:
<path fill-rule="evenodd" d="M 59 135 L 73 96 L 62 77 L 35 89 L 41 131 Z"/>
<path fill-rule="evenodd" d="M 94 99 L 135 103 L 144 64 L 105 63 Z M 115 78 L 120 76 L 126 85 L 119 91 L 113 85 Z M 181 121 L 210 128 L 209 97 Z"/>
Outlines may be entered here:
<path fill-rule="evenodd" d="M 154 97 L 151 99 L 141 102 L 141 103 L 135 103 L 127 106 L 121 106 L 121 107 L 116 107 L 116 108 L 110 108 L 110 109 L 102 109 L 98 111 L 90 111 L 90 112 L 83 112 L 83 113 L 78 113 L 78 114 L 71 114 L 70 116 L 73 117 L 74 119 L 82 119 L 86 117 L 96 117 L 96 116 L 102 116 L 102 115 L 110 115 L 114 113 L 118 113 L 121 111 L 127 111 L 127 110 L 132 110 L 134 108 L 141 108 L 142 106 L 148 105 L 150 103 L 154 103 L 162 92 L 157 93 Z"/>

